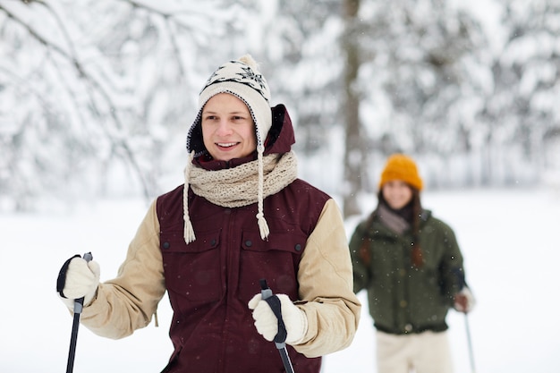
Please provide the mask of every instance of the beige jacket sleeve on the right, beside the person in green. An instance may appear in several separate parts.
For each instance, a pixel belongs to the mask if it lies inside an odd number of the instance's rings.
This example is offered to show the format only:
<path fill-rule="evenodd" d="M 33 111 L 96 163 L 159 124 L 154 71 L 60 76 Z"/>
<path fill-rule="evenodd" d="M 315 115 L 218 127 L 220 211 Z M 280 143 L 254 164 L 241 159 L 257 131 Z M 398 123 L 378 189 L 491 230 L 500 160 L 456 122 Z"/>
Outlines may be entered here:
<path fill-rule="evenodd" d="M 298 304 L 308 319 L 301 344 L 305 356 L 318 357 L 352 343 L 360 321 L 361 303 L 352 291 L 352 261 L 344 222 L 334 199 L 327 201 L 301 255 Z"/>

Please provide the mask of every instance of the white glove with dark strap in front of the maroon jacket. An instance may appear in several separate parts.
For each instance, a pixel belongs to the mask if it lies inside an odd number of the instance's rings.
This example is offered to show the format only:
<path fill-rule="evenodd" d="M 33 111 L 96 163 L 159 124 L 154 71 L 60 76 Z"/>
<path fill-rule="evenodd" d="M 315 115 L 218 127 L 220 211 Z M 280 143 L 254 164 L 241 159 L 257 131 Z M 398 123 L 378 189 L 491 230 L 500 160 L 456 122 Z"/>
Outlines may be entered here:
<path fill-rule="evenodd" d="M 282 309 L 282 319 L 286 327 L 287 344 L 299 344 L 303 341 L 303 337 L 307 333 L 307 317 L 305 313 L 297 306 L 293 305 L 290 298 L 285 294 L 276 295 L 280 300 Z M 265 337 L 269 342 L 274 340 L 278 333 L 278 319 L 268 305 L 267 301 L 262 300 L 260 294 L 255 295 L 248 304 L 253 309 L 253 318 L 255 326 L 260 335 Z"/>

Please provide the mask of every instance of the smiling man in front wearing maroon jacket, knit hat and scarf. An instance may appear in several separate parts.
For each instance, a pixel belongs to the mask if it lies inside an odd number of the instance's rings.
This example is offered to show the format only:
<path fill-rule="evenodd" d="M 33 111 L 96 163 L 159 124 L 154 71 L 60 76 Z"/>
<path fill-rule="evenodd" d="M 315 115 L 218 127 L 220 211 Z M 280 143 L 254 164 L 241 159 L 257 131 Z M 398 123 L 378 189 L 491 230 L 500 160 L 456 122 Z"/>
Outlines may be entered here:
<path fill-rule="evenodd" d="M 294 142 L 252 57 L 220 66 L 200 93 L 184 184 L 152 203 L 115 279 L 99 283 L 95 261 L 69 259 L 61 299 L 72 309 L 85 296 L 81 322 L 121 338 L 148 325 L 167 291 L 164 372 L 282 372 L 266 278 L 294 370 L 318 373 L 322 355 L 352 342 L 361 304 L 339 208 L 297 178 Z"/>

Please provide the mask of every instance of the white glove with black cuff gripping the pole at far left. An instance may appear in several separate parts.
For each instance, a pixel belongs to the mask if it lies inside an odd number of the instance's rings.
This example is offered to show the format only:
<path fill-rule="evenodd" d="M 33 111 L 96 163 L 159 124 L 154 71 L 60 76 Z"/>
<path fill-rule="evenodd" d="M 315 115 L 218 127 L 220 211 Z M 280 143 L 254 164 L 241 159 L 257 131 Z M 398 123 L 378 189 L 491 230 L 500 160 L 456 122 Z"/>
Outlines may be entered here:
<path fill-rule="evenodd" d="M 79 255 L 66 260 L 56 280 L 56 291 L 60 299 L 70 309 L 74 307 L 74 300 L 81 297 L 84 298 L 83 305 L 88 305 L 98 291 L 99 274 L 96 261 L 88 262 Z"/>

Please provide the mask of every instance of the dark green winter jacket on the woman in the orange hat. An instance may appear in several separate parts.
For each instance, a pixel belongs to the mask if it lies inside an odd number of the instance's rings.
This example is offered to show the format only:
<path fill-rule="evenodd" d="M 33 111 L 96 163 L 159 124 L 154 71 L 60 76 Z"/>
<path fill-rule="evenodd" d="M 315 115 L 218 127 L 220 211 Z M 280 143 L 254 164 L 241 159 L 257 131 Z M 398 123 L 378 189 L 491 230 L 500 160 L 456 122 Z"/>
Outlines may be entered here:
<path fill-rule="evenodd" d="M 411 246 L 410 229 L 397 234 L 382 225 L 374 211 L 356 227 L 350 241 L 354 292 L 367 289 L 369 314 L 380 331 L 396 335 L 443 331 L 454 294 L 464 284 L 454 232 L 424 210 L 420 268 L 412 266 Z"/>

